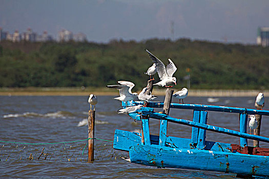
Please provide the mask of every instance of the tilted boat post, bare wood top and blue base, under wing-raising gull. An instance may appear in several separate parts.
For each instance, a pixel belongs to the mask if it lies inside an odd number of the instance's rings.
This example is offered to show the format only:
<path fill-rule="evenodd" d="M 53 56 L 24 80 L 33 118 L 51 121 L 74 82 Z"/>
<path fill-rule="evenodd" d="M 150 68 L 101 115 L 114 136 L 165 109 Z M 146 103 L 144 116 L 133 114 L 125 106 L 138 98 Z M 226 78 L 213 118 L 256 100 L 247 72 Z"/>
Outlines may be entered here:
<path fill-rule="evenodd" d="M 162 111 L 162 113 L 165 115 L 169 115 L 173 93 L 174 93 L 173 89 L 167 88 Z M 159 145 L 165 146 L 166 138 L 167 138 L 167 120 L 160 120 Z"/>

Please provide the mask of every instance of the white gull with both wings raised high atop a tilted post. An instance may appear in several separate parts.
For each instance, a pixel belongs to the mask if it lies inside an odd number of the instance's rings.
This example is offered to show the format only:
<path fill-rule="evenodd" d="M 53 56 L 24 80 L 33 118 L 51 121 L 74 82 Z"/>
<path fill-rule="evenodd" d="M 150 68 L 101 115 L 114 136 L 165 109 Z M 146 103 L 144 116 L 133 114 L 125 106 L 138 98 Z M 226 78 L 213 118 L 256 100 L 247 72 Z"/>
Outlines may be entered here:
<path fill-rule="evenodd" d="M 166 68 L 161 60 L 159 60 L 157 57 L 155 57 L 150 51 L 145 49 L 146 52 L 149 53 L 151 60 L 156 64 L 156 71 L 158 73 L 158 76 L 161 81 L 158 83 L 155 83 L 153 85 L 159 85 L 159 86 L 165 86 L 165 87 L 173 87 L 168 86 L 169 84 L 175 83 L 177 85 L 176 77 L 173 77 L 173 74 L 176 72 L 177 68 L 176 65 L 173 63 L 173 61 L 169 58 L 169 63 L 167 64 Z"/>

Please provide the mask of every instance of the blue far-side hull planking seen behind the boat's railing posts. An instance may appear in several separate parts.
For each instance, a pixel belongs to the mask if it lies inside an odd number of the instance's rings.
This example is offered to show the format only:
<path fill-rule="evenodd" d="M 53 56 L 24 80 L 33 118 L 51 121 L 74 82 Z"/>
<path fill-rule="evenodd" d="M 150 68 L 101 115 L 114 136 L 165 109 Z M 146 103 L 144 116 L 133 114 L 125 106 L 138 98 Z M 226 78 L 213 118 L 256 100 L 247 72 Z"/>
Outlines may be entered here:
<path fill-rule="evenodd" d="M 159 136 L 150 135 L 151 144 L 159 144 Z M 130 132 L 125 130 L 115 130 L 114 143 L 113 147 L 117 150 L 129 151 L 131 146 L 136 146 L 141 144 L 141 133 Z M 165 146 L 173 148 L 184 148 L 184 149 L 193 149 L 194 145 L 191 144 L 191 139 L 177 138 L 173 136 L 168 136 Z M 225 151 L 233 152 L 231 144 L 218 143 L 212 141 L 206 141 L 206 147 L 204 150 L 213 150 L 213 151 Z"/>

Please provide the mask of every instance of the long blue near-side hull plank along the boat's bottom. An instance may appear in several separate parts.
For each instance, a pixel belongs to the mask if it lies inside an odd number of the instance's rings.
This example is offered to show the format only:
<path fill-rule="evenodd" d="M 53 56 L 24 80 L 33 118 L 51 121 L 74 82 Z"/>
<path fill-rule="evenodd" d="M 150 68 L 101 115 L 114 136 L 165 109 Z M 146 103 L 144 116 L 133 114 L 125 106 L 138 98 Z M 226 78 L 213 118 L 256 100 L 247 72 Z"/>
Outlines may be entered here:
<path fill-rule="evenodd" d="M 159 145 L 130 147 L 132 163 L 247 175 L 269 175 L 269 157 L 212 150 L 170 148 Z"/>

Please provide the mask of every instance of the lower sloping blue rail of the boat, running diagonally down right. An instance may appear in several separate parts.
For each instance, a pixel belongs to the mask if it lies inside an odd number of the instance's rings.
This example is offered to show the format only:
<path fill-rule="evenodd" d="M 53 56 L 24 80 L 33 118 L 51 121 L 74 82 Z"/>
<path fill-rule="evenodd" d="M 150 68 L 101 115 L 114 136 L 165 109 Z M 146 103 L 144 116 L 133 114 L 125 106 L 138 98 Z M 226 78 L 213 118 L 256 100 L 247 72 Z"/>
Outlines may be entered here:
<path fill-rule="evenodd" d="M 241 138 L 245 138 L 245 139 L 252 139 L 252 140 L 256 140 L 256 141 L 262 141 L 262 142 L 269 143 L 269 138 L 262 137 L 262 136 L 249 135 L 248 133 L 238 132 L 235 130 L 226 129 L 226 128 L 213 126 L 213 125 L 201 124 L 201 123 L 197 123 L 197 122 L 193 122 L 193 121 L 189 121 L 189 120 L 184 120 L 184 119 L 176 119 L 176 118 L 172 118 L 170 116 L 167 116 L 165 114 L 160 114 L 160 113 L 152 113 L 149 111 L 142 111 L 142 114 L 149 115 L 150 118 L 161 119 L 161 120 L 165 119 L 165 120 L 168 120 L 170 122 L 174 122 L 174 123 L 178 123 L 178 124 L 188 125 L 188 126 L 192 126 L 192 127 L 198 127 L 201 129 L 206 129 L 206 130 L 210 130 L 210 131 L 214 131 L 214 132 L 218 132 L 218 133 L 225 133 L 225 134 L 231 135 L 231 136 L 236 136 L 236 137 L 241 137 Z"/>

